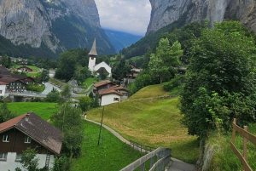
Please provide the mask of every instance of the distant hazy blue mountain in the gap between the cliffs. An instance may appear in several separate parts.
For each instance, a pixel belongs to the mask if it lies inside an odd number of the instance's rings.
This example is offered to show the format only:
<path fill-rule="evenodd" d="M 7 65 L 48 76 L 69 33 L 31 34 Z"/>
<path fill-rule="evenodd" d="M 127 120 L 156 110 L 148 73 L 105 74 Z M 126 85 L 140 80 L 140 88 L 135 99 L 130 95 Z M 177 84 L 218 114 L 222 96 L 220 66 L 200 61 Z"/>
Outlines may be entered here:
<path fill-rule="evenodd" d="M 108 40 L 113 44 L 116 52 L 119 52 L 121 49 L 128 46 L 131 46 L 132 43 L 136 43 L 142 38 L 141 36 L 136 36 L 121 31 L 111 31 L 108 29 L 104 29 L 104 31 L 108 36 Z"/>

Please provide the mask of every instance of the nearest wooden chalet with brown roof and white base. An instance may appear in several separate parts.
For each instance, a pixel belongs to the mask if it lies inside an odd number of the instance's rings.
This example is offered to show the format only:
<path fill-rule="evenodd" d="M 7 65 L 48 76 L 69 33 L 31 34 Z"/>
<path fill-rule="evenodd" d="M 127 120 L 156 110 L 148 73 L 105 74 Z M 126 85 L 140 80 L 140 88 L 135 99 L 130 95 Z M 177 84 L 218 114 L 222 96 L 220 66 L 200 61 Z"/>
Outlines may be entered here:
<path fill-rule="evenodd" d="M 61 145 L 61 130 L 32 111 L 0 123 L 0 170 L 22 168 L 20 154 L 28 147 L 37 151 L 38 168 L 52 168 L 55 156 L 60 156 Z"/>

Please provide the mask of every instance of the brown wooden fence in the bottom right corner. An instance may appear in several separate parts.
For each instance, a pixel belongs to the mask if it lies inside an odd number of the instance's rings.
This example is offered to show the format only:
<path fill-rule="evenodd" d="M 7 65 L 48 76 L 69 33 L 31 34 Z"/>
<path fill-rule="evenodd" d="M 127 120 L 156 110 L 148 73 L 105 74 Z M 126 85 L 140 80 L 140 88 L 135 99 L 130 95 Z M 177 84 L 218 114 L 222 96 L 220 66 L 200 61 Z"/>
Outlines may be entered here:
<path fill-rule="evenodd" d="M 233 127 L 232 141 L 230 142 L 231 150 L 236 154 L 236 156 L 241 161 L 243 170 L 253 171 L 253 169 L 247 163 L 247 140 L 251 141 L 253 145 L 256 145 L 256 136 L 247 132 L 247 126 L 244 126 L 244 128 L 238 127 L 236 125 L 236 118 L 232 123 L 232 127 Z M 235 146 L 236 132 L 238 132 L 243 136 L 243 154 L 241 154 L 240 151 L 238 151 Z"/>

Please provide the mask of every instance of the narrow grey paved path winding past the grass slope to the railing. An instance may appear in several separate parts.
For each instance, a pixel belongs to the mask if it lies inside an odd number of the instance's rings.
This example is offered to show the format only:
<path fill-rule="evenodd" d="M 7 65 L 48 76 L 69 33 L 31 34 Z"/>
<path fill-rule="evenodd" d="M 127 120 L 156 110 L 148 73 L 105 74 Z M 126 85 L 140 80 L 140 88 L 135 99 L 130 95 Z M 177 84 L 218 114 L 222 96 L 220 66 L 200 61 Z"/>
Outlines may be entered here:
<path fill-rule="evenodd" d="M 86 121 L 89 121 L 90 123 L 96 123 L 98 125 L 101 125 L 101 123 L 97 123 L 95 121 L 91 121 L 89 119 L 86 119 Z M 102 124 L 102 127 L 108 129 L 112 134 L 114 134 L 119 140 L 125 142 L 128 145 L 130 144 L 130 141 L 125 140 L 124 137 L 122 137 L 119 133 L 114 131 L 112 128 L 109 128 L 108 126 Z M 169 163 L 169 167 L 166 169 L 166 171 L 196 171 L 196 167 L 194 164 L 188 164 L 186 162 L 177 160 L 176 158 L 172 158 L 172 161 Z"/>

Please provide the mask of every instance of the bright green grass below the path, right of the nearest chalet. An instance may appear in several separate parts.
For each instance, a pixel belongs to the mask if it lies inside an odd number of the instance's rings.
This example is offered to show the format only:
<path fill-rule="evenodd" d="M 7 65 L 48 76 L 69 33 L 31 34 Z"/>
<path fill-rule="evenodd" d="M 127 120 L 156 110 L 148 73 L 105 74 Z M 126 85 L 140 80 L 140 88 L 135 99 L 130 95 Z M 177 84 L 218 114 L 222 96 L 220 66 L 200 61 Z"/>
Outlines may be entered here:
<path fill-rule="evenodd" d="M 98 146 L 99 130 L 99 125 L 84 121 L 83 153 L 74 160 L 71 170 L 118 171 L 144 155 L 117 139 L 105 128 L 102 128 L 103 140 Z"/>

